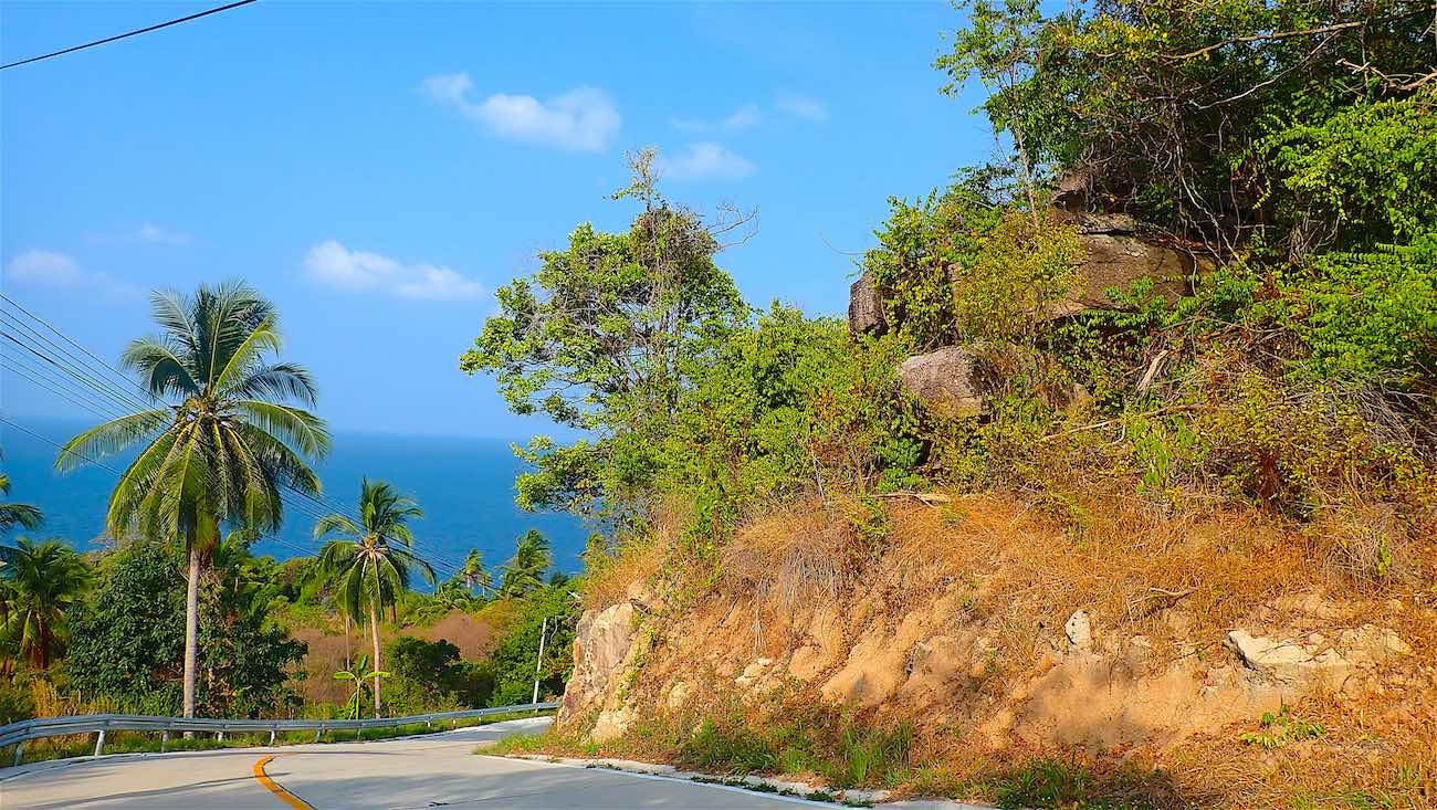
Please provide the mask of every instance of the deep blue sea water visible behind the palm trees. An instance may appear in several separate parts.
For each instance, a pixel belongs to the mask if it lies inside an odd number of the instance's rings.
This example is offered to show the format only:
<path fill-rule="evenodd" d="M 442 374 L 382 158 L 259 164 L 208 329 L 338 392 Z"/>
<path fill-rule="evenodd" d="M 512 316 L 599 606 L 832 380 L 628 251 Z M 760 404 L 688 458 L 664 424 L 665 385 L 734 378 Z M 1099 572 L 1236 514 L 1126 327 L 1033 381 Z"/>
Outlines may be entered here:
<path fill-rule="evenodd" d="M 91 427 L 79 421 L 9 414 L 6 418 L 60 444 Z M 493 567 L 513 554 L 516 537 L 537 529 L 549 537 L 559 569 L 569 573 L 581 569 L 586 531 L 576 518 L 526 513 L 514 506 L 514 474 L 522 462 L 513 457 L 507 441 L 356 432 L 336 432 L 333 439 L 333 451 L 316 465 L 325 485 L 323 497 L 354 511 L 361 478 L 369 475 L 392 483 L 424 507 L 425 516 L 414 524 L 414 536 L 421 556 L 431 563 L 443 560 L 457 566 L 470 549 L 479 549 L 484 563 Z M 115 474 L 86 467 L 59 475 L 53 471 L 55 447 L 10 425 L 0 424 L 0 447 L 4 450 L 0 468 L 10 475 L 11 484 L 9 500 L 45 511 L 45 526 L 27 534 L 57 536 L 76 549 L 95 549 Z M 126 457 L 105 462 L 124 470 L 128 461 Z M 303 510 L 320 511 L 297 495 L 287 500 L 305 504 Z M 313 523 L 300 507 L 290 507 L 279 531 L 289 544 L 264 540 L 254 551 L 279 559 L 315 553 Z M 443 579 L 444 573 L 438 573 Z"/>

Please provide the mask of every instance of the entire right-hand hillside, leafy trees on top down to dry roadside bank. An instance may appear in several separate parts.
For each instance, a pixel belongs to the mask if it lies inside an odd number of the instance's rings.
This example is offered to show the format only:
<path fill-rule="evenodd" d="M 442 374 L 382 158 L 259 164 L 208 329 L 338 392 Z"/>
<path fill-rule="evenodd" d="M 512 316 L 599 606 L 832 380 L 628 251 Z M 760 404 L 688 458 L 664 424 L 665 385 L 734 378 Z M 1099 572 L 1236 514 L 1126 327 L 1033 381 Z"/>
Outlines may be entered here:
<path fill-rule="evenodd" d="M 550 750 L 1086 807 L 1437 797 L 1428 3 L 979 1 L 1004 159 L 849 323 L 756 309 L 652 154 L 461 365 L 596 521 Z"/>

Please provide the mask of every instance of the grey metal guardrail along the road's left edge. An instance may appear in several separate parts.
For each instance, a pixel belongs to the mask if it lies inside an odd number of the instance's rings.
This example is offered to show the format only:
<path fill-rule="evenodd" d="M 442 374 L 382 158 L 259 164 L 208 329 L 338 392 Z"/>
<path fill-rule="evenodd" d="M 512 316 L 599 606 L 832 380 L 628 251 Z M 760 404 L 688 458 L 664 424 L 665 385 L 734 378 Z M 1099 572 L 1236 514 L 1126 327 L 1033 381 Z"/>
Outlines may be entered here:
<path fill-rule="evenodd" d="M 412 714 L 407 717 L 374 717 L 366 720 L 216 720 L 208 717 L 152 717 L 144 714 L 83 714 L 76 717 L 39 717 L 22 720 L 10 725 L 0 725 L 0 748 L 14 745 L 14 764 L 20 764 L 24 755 L 24 744 L 30 740 L 45 737 L 60 737 L 65 734 L 98 734 L 95 737 L 95 755 L 105 753 L 106 731 L 158 731 L 160 750 L 164 751 L 170 742 L 171 732 L 200 731 L 216 734 L 224 740 L 230 732 L 264 732 L 269 731 L 270 742 L 282 731 L 313 731 L 315 742 L 326 731 L 354 731 L 358 735 L 365 728 L 394 728 L 398 725 L 425 724 L 471 720 L 496 714 L 512 714 L 520 711 L 546 711 L 559 708 L 559 704 L 519 704 L 512 707 L 496 707 L 487 709 L 440 711 L 431 714 Z"/>

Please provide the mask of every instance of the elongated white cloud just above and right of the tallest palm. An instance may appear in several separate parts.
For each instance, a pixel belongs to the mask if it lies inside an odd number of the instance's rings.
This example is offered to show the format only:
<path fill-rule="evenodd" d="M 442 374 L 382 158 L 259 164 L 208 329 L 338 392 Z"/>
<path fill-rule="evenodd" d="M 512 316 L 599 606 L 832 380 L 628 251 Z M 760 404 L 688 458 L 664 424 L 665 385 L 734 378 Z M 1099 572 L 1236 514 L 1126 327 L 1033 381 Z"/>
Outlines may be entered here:
<path fill-rule="evenodd" d="M 487 293 L 483 284 L 448 267 L 402 264 L 378 253 L 349 250 L 336 240 L 309 248 L 305 273 L 339 290 L 399 299 L 473 300 Z"/>

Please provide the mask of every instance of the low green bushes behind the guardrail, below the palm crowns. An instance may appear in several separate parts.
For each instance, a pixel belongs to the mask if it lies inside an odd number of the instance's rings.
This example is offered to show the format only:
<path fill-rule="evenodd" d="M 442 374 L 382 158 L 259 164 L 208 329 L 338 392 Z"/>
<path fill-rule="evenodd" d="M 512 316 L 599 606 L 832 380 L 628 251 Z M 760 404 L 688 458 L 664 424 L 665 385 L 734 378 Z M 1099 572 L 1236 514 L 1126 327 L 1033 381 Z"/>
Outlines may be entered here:
<path fill-rule="evenodd" d="M 306 699 L 296 681 L 306 645 L 292 633 L 338 632 L 348 569 L 326 566 L 318 556 L 276 563 L 254 556 L 250 540 L 230 533 L 205 560 L 197 589 L 195 712 L 372 715 L 372 682 L 358 685 L 366 705 L 355 707 Z M 55 540 L 20 537 L 14 546 L 0 546 L 0 722 L 86 711 L 180 712 L 185 569 L 182 549 L 148 540 L 85 556 Z M 463 589 L 458 600 L 453 593 L 408 592 L 387 602 L 387 620 L 385 612 L 376 610 L 378 618 L 397 635 L 381 648 L 384 714 L 527 702 L 545 619 L 540 697 L 562 692 L 572 666 L 576 603 L 563 577 L 553 579 L 559 585 L 540 582 L 523 595 Z M 361 597 L 366 589 L 359 585 Z M 491 655 L 464 659 L 447 641 L 412 635 L 454 609 L 490 628 Z M 379 638 L 364 599 L 355 626 L 368 628 L 371 642 Z M 349 669 L 376 681 L 371 661 L 356 656 Z"/>

